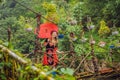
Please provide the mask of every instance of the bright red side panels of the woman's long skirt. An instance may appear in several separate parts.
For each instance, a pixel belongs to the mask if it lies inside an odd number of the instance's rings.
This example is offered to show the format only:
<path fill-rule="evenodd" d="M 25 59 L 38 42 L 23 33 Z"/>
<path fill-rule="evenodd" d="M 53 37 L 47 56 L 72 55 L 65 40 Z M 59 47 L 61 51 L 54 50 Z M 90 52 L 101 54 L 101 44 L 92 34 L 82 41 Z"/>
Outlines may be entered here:
<path fill-rule="evenodd" d="M 56 48 L 54 49 L 52 54 L 53 54 L 53 65 L 56 66 L 56 64 L 58 63 L 58 56 L 56 54 Z M 44 53 L 44 56 L 43 56 L 43 65 L 49 65 L 46 53 Z"/>

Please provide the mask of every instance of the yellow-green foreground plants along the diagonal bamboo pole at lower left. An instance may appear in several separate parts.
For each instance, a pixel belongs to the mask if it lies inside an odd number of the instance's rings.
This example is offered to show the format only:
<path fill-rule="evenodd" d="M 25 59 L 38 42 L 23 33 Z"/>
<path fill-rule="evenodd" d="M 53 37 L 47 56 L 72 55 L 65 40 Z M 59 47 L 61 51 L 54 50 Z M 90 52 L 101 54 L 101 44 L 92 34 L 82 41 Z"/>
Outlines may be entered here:
<path fill-rule="evenodd" d="M 42 66 L 42 64 L 31 64 L 30 62 L 26 65 L 22 65 L 21 63 L 19 63 L 19 61 L 16 61 L 14 58 L 11 58 L 7 54 L 7 52 L 1 51 L 0 49 L 0 55 L 4 55 L 0 58 L 0 79 L 2 80 L 9 78 L 17 80 L 49 80 L 48 76 L 53 76 L 55 80 L 63 79 L 62 76 L 64 76 L 64 80 L 69 80 L 70 78 L 72 78 L 72 80 L 75 80 L 75 78 L 73 77 L 74 71 L 70 68 L 67 68 L 65 71 L 62 69 L 57 70 L 51 69 L 48 66 Z M 37 71 L 36 68 L 38 68 Z M 54 74 L 53 72 L 57 73 Z"/>

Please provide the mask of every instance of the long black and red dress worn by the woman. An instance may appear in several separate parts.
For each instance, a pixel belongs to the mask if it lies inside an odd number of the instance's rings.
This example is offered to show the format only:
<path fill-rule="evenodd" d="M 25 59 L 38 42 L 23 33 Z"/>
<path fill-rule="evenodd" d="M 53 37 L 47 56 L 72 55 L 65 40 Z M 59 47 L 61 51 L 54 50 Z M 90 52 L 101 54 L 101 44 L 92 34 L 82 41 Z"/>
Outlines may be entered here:
<path fill-rule="evenodd" d="M 58 63 L 58 57 L 56 54 L 57 46 L 54 46 L 53 43 L 48 42 L 48 39 L 45 40 L 46 52 L 43 56 L 43 65 L 54 65 Z"/>

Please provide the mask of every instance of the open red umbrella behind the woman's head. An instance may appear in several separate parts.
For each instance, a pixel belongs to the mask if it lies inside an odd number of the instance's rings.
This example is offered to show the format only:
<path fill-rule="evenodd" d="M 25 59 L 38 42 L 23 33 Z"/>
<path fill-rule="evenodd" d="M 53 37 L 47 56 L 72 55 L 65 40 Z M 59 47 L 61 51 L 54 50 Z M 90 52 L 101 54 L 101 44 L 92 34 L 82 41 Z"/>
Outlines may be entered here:
<path fill-rule="evenodd" d="M 38 38 L 50 38 L 51 32 L 58 32 L 58 26 L 53 23 L 43 23 L 39 26 Z"/>

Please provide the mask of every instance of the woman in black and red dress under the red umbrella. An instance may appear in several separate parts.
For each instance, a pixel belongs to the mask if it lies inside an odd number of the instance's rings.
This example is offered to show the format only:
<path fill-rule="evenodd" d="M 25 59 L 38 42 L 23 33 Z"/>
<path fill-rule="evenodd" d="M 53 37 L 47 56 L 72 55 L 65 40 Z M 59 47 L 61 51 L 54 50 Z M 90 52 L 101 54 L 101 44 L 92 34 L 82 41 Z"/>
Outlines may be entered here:
<path fill-rule="evenodd" d="M 44 53 L 43 65 L 56 66 L 58 63 L 58 57 L 56 54 L 58 44 L 57 36 L 58 33 L 56 31 L 52 31 L 51 38 L 47 38 L 44 42 L 46 53 Z"/>

